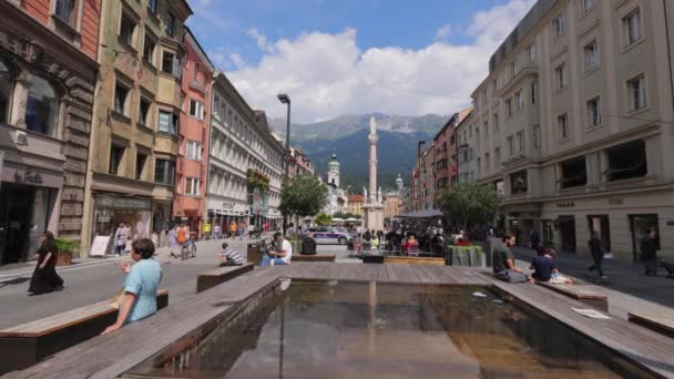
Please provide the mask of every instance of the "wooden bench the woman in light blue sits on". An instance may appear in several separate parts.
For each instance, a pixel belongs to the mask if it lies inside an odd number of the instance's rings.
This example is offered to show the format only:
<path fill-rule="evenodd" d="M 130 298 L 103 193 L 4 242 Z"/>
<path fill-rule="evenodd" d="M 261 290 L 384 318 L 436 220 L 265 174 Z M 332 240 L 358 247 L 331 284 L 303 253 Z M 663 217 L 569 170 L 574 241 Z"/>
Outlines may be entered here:
<path fill-rule="evenodd" d="M 156 307 L 168 306 L 168 291 L 156 295 Z M 30 367 L 71 346 L 103 332 L 114 324 L 118 309 L 111 300 L 0 330 L 0 375 Z"/>

